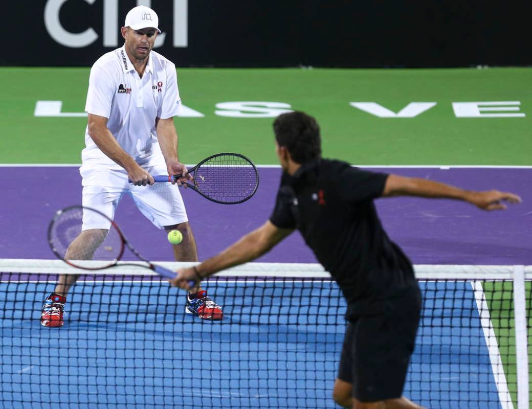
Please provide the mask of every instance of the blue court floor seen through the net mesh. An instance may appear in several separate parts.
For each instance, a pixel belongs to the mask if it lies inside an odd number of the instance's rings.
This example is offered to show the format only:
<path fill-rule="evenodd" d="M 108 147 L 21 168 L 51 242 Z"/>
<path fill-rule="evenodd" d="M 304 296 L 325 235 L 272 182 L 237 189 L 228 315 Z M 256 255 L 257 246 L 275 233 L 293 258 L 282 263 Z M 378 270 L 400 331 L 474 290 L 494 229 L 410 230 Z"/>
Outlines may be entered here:
<path fill-rule="evenodd" d="M 0 285 L 0 407 L 336 407 L 345 305 L 330 281 L 217 281 L 207 288 L 222 322 L 185 315 L 164 282 L 79 282 L 60 329 L 39 323 L 53 285 L 31 281 Z M 421 288 L 405 395 L 431 408 L 509 407 L 471 283 Z"/>

